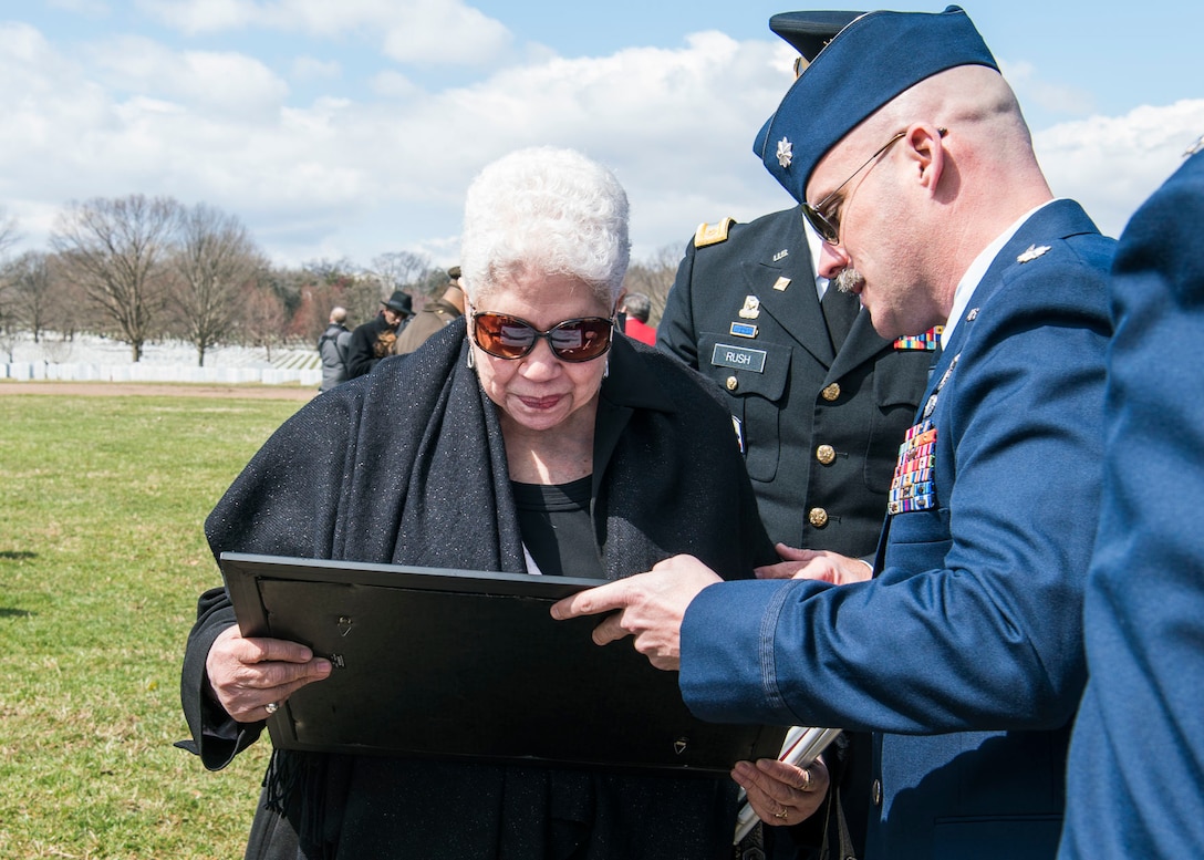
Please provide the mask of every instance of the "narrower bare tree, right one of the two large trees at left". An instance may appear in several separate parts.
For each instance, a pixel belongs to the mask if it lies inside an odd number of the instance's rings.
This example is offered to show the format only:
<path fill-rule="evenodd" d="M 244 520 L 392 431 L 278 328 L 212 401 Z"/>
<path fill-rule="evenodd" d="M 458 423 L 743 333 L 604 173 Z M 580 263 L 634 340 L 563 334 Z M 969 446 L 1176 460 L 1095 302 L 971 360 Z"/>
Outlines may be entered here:
<path fill-rule="evenodd" d="M 181 212 L 171 263 L 172 305 L 203 367 L 205 353 L 229 338 L 248 287 L 267 264 L 238 218 L 205 204 Z"/>

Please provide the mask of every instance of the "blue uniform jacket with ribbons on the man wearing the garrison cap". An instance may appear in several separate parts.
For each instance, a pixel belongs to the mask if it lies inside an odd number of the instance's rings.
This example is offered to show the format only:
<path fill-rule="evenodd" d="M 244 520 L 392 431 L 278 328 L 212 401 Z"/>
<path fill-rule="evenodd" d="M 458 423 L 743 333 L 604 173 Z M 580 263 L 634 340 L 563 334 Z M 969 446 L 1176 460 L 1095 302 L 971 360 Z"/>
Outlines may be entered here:
<path fill-rule="evenodd" d="M 996 257 L 933 371 L 922 440 L 901 448 L 915 456 L 874 579 L 727 583 L 686 612 L 680 684 L 700 717 L 875 734 L 867 858 L 1056 852 L 1112 248 L 1060 200 Z"/>

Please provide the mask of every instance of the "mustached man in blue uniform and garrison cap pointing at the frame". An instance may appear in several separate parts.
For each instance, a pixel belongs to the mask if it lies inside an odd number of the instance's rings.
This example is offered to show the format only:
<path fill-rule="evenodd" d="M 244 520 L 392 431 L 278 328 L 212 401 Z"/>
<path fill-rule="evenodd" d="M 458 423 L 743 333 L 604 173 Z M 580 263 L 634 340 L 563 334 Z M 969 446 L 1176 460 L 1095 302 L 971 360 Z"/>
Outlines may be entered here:
<path fill-rule="evenodd" d="M 872 731 L 866 858 L 1052 858 L 1086 678 L 1115 242 L 1054 200 L 957 7 L 854 20 L 756 149 L 824 236 L 820 275 L 878 334 L 945 326 L 875 576 L 715 584 L 679 555 L 553 613 L 621 609 L 595 640 L 633 634 L 703 719 Z M 802 573 L 858 567 L 822 554 Z M 811 781 L 772 778 L 777 764 L 733 776 L 789 824 Z"/>

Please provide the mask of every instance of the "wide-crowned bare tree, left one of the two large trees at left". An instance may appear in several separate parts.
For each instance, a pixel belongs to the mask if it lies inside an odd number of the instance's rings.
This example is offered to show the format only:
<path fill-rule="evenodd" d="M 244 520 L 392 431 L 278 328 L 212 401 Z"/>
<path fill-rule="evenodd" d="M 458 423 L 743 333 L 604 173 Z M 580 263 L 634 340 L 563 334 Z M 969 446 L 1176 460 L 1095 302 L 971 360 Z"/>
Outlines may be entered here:
<path fill-rule="evenodd" d="M 51 246 L 134 360 L 158 335 L 167 304 L 164 260 L 179 204 L 171 198 L 95 198 L 59 216 Z"/>

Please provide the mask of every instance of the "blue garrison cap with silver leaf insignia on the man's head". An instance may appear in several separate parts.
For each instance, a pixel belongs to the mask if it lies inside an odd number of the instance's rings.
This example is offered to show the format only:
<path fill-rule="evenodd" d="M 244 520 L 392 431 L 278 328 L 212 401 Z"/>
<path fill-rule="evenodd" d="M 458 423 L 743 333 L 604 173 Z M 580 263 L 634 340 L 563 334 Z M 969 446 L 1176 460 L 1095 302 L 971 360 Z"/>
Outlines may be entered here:
<path fill-rule="evenodd" d="M 815 165 L 863 119 L 925 78 L 955 66 L 998 71 L 958 6 L 944 12 L 869 12 L 855 18 L 798 76 L 752 145 L 798 202 Z"/>

